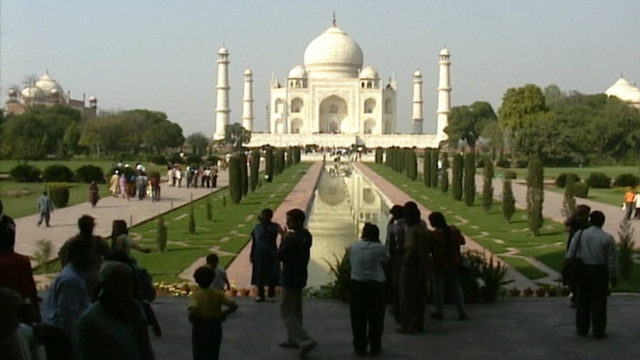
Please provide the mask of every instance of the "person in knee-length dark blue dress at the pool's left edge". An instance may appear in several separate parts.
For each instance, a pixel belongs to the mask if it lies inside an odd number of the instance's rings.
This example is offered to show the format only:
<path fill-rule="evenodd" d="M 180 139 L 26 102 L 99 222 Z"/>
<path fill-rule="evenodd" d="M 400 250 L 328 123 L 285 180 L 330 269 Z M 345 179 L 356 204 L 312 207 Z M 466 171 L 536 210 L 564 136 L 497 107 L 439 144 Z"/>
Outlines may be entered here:
<path fill-rule="evenodd" d="M 272 222 L 273 211 L 263 209 L 258 216 L 260 223 L 251 231 L 251 253 L 249 259 L 252 264 L 251 284 L 258 290 L 257 302 L 265 301 L 265 286 L 269 288 L 267 295 L 270 299 L 275 296 L 280 270 L 276 240 L 278 234 L 284 230 Z"/>

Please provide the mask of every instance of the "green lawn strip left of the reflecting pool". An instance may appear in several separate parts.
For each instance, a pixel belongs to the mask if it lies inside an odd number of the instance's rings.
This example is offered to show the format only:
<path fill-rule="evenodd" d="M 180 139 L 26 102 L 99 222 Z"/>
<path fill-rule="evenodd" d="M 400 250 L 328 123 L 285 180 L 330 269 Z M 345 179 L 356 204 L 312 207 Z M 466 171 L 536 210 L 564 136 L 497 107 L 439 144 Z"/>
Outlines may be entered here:
<path fill-rule="evenodd" d="M 166 253 L 156 250 L 157 219 L 129 229 L 140 244 L 154 249 L 149 254 L 135 251 L 134 256 L 149 270 L 154 281 L 182 282 L 178 274 L 197 258 L 211 253 L 210 248 L 213 246 L 219 246 L 219 251 L 238 253 L 249 240 L 252 227 L 257 222 L 257 214 L 265 207 L 276 209 L 310 165 L 300 163 L 287 168 L 274 182 L 262 182 L 262 186 L 255 192 L 250 192 L 240 204 L 231 203 L 226 190 L 211 194 L 209 197 L 213 205 L 213 222 L 206 219 L 206 198 L 193 202 L 196 234 L 188 233 L 190 206 L 165 214 L 169 232 Z M 223 196 L 226 207 L 223 207 Z M 226 267 L 233 257 L 220 256 L 220 266 Z M 230 278 L 233 278 L 233 274 L 230 274 Z"/>

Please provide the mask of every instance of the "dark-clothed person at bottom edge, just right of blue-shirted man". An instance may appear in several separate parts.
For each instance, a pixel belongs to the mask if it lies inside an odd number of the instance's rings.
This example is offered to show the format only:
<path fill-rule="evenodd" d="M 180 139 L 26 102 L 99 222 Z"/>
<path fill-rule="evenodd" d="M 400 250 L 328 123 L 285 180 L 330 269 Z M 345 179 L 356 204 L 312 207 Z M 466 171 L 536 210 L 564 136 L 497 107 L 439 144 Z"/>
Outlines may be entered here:
<path fill-rule="evenodd" d="M 134 298 L 132 267 L 106 261 L 100 268 L 102 291 L 78 319 L 76 360 L 154 360 L 142 307 Z"/>

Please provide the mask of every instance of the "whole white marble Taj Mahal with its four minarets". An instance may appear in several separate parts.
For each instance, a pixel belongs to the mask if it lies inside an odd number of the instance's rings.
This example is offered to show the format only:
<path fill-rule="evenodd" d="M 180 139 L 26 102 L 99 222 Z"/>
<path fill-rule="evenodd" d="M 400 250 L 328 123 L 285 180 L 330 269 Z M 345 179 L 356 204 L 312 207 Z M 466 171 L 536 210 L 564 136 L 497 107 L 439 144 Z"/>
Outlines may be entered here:
<path fill-rule="evenodd" d="M 321 147 L 437 147 L 447 138 L 444 128 L 451 112 L 450 53 L 439 53 L 436 133 L 423 133 L 422 73 L 413 74 L 412 133 L 398 133 L 398 82 L 395 75 L 380 80 L 374 67 L 363 67 L 363 51 L 348 34 L 333 23 L 311 40 L 304 50 L 304 65 L 293 67 L 286 80 L 272 75 L 268 132 L 253 131 L 252 71 L 245 70 L 242 92 L 242 126 L 252 131 L 247 146 Z M 230 124 L 230 51 L 218 50 L 218 82 L 215 133 L 219 140 Z M 402 106 L 403 104 L 400 104 Z M 409 106 L 409 104 L 406 104 Z M 400 121 L 404 121 L 400 119 Z"/>

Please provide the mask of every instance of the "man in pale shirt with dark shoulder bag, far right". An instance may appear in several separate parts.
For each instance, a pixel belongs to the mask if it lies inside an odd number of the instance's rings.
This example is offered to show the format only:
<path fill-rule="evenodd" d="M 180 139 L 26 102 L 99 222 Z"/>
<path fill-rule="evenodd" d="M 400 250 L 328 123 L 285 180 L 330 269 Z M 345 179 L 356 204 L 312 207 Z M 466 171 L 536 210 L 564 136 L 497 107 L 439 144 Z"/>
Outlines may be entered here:
<path fill-rule="evenodd" d="M 593 336 L 605 337 L 607 327 L 607 290 L 617 285 L 617 253 L 613 236 L 602 230 L 604 214 L 594 211 L 591 226 L 578 231 L 571 241 L 567 258 L 582 259 L 584 266 L 577 280 L 576 332 L 586 337 L 593 324 Z"/>

